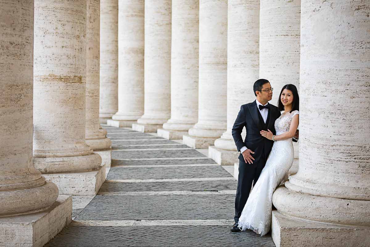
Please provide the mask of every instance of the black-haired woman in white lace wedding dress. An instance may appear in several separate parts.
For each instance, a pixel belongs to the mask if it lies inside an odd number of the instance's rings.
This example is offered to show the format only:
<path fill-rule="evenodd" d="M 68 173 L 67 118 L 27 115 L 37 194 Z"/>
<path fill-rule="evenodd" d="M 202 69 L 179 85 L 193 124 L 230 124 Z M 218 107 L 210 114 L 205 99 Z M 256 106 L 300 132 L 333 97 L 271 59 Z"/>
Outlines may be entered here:
<path fill-rule="evenodd" d="M 270 130 L 260 132 L 263 137 L 275 142 L 238 222 L 238 227 L 243 231 L 251 229 L 261 236 L 270 231 L 272 194 L 287 179 L 294 160 L 292 137 L 299 123 L 299 96 L 296 86 L 287 84 L 283 87 L 277 106 L 284 113 L 275 121 L 276 135 Z"/>

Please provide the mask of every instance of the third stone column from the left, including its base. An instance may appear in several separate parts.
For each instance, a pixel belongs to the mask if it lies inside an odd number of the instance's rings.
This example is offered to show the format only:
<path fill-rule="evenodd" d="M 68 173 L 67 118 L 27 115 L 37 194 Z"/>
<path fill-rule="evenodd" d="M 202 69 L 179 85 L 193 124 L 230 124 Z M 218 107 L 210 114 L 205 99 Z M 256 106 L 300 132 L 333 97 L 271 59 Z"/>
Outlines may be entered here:
<path fill-rule="evenodd" d="M 110 167 L 112 142 L 99 129 L 100 0 L 86 4 L 86 144 Z"/>

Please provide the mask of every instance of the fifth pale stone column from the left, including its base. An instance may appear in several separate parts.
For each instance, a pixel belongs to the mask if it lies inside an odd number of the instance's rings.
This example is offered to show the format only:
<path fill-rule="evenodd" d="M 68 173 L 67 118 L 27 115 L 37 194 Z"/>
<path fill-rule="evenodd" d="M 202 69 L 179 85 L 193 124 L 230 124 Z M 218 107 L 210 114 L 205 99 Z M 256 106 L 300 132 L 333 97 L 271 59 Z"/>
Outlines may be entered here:
<path fill-rule="evenodd" d="M 121 0 L 118 12 L 118 112 L 107 124 L 131 127 L 144 114 L 144 0 Z"/>

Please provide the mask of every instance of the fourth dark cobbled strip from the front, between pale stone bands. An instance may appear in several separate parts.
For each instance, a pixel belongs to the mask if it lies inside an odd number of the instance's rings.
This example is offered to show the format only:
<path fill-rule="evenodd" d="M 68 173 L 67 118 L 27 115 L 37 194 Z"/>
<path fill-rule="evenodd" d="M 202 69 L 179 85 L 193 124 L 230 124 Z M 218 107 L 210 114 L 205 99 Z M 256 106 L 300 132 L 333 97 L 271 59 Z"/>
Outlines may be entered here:
<path fill-rule="evenodd" d="M 221 166 L 112 167 L 107 179 L 232 177 Z"/>

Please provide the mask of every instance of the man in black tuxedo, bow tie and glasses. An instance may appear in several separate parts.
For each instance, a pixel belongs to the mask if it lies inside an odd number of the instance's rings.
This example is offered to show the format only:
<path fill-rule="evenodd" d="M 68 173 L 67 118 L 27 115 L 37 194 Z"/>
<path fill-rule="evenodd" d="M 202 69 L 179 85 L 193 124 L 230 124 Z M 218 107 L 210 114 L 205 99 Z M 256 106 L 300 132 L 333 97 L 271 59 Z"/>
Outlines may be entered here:
<path fill-rule="evenodd" d="M 275 120 L 280 117 L 279 108 L 269 104 L 272 99 L 272 87 L 265 79 L 257 80 L 253 85 L 256 100 L 242 105 L 232 128 L 232 136 L 239 155 L 239 177 L 235 197 L 235 224 L 231 231 L 240 231 L 239 217 L 249 197 L 249 192 L 256 184 L 266 164 L 273 141 L 261 136 L 261 130 L 271 130 L 275 134 Z M 243 127 L 246 128 L 245 141 L 242 139 Z"/>

